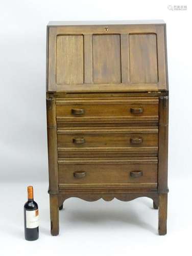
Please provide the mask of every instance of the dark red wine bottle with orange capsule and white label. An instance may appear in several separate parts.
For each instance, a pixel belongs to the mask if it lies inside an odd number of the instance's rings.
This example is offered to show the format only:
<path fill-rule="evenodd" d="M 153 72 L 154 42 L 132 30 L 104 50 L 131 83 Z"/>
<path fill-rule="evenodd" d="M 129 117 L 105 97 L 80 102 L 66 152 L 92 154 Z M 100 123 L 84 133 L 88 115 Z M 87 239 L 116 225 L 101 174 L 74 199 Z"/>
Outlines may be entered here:
<path fill-rule="evenodd" d="M 24 205 L 25 238 L 34 241 L 39 238 L 39 211 L 33 200 L 33 186 L 28 186 L 28 201 Z"/>

